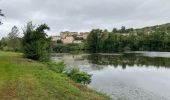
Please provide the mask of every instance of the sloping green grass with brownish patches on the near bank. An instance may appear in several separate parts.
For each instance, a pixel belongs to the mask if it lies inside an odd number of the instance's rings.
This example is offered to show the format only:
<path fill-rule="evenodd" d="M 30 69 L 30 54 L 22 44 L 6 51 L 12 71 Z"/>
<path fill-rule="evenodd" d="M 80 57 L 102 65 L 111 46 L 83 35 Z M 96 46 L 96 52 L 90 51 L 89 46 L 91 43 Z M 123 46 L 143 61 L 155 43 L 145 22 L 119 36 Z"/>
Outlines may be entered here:
<path fill-rule="evenodd" d="M 108 100 L 47 65 L 20 53 L 0 51 L 1 100 Z"/>

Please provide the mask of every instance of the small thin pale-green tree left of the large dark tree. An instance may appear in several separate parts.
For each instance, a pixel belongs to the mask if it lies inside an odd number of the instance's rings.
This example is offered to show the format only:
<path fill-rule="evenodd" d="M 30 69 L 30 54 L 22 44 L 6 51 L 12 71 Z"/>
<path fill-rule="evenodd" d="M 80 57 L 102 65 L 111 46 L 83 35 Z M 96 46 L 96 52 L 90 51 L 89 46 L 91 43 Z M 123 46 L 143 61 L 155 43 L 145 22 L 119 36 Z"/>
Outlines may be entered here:
<path fill-rule="evenodd" d="M 11 32 L 8 34 L 7 47 L 9 50 L 18 51 L 21 49 L 21 39 L 18 37 L 19 30 L 16 26 L 12 27 Z"/>

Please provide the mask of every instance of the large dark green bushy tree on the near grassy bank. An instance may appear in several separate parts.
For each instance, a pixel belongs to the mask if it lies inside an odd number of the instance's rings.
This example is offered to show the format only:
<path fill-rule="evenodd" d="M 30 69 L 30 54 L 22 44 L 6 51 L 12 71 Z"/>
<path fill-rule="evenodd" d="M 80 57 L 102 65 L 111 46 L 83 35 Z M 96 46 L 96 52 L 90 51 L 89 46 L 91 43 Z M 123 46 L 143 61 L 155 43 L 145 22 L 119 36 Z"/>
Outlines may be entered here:
<path fill-rule="evenodd" d="M 49 30 L 46 24 L 39 25 L 36 28 L 32 25 L 32 22 L 27 24 L 23 37 L 23 51 L 27 58 L 39 61 L 50 59 L 51 42 L 45 30 Z"/>

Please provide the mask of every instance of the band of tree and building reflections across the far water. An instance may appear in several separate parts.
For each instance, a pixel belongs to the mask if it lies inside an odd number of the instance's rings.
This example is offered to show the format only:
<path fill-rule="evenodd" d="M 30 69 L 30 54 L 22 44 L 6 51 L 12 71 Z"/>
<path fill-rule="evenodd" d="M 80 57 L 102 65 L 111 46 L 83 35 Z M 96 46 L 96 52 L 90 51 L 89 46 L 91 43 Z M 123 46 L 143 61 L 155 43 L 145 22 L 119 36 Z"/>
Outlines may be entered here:
<path fill-rule="evenodd" d="M 68 66 L 89 65 L 93 70 L 101 70 L 106 65 L 115 68 L 127 66 L 133 67 L 149 67 L 170 68 L 170 58 L 165 57 L 149 57 L 143 53 L 123 53 L 123 54 L 55 54 L 55 61 L 64 60 Z"/>

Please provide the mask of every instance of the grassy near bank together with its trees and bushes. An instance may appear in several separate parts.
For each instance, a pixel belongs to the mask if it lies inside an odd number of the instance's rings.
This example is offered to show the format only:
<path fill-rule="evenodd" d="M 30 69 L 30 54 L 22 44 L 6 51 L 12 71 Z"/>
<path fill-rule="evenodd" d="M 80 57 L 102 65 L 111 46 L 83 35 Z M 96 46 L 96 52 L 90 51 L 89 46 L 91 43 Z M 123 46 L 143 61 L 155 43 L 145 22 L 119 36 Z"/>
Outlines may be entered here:
<path fill-rule="evenodd" d="M 86 86 L 91 75 L 74 69 L 64 74 L 64 63 L 50 60 L 51 43 L 45 30 L 49 30 L 46 24 L 36 27 L 29 22 L 22 38 L 13 27 L 1 40 L 1 50 L 23 52 L 0 51 L 1 100 L 109 100 Z"/>

